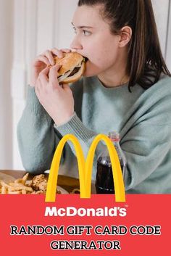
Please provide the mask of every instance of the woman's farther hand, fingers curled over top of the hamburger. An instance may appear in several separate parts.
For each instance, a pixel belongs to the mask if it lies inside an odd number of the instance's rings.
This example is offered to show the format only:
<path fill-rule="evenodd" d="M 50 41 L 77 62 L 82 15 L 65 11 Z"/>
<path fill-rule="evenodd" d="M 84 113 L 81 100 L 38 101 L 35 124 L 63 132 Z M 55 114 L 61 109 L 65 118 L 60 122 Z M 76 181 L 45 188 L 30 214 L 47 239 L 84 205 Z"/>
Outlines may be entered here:
<path fill-rule="evenodd" d="M 36 80 L 38 79 L 38 75 L 44 70 L 47 66 L 53 66 L 54 63 L 54 56 L 59 58 L 63 57 L 63 52 L 70 52 L 70 49 L 51 49 L 46 50 L 43 54 L 38 55 L 36 59 L 33 61 L 32 69 L 31 69 L 31 78 L 30 78 L 30 86 L 34 87 L 36 84 Z"/>

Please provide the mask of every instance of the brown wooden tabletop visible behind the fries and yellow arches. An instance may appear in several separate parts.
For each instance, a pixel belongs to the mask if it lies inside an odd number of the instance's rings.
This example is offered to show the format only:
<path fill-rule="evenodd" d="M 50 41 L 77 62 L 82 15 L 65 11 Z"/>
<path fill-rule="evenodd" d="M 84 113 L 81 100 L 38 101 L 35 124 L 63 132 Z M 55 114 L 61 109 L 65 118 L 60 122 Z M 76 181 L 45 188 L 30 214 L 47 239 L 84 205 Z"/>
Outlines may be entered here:
<path fill-rule="evenodd" d="M 24 170 L 0 170 L 0 172 L 8 174 L 9 176 L 12 176 L 14 178 L 22 178 L 26 173 Z M 49 176 L 48 173 L 46 173 L 45 175 L 47 177 Z M 33 178 L 33 176 L 30 175 L 30 178 Z M 69 193 L 72 192 L 73 189 L 79 189 L 80 187 L 80 182 L 78 178 L 72 178 L 63 175 L 58 176 L 57 184 L 58 186 L 61 186 L 63 189 L 67 190 Z M 91 186 L 91 193 L 96 193 L 94 184 L 92 184 Z"/>

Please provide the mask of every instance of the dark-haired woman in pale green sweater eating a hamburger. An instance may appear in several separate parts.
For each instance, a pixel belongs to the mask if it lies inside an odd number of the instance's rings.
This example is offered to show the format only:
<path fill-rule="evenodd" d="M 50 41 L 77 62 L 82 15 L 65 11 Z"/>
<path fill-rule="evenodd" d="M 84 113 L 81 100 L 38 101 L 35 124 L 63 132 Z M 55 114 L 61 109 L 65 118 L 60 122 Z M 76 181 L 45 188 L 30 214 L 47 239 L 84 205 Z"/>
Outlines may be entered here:
<path fill-rule="evenodd" d="M 28 100 L 18 125 L 22 162 L 50 168 L 59 140 L 78 137 L 85 155 L 98 133 L 118 131 L 127 158 L 127 193 L 171 193 L 171 78 L 162 57 L 150 0 L 78 1 L 71 49 L 88 58 L 84 78 L 59 86 L 52 49 L 33 63 Z M 47 65 L 53 65 L 49 68 Z M 104 145 L 100 144 L 96 160 Z M 78 176 L 72 145 L 62 165 Z"/>

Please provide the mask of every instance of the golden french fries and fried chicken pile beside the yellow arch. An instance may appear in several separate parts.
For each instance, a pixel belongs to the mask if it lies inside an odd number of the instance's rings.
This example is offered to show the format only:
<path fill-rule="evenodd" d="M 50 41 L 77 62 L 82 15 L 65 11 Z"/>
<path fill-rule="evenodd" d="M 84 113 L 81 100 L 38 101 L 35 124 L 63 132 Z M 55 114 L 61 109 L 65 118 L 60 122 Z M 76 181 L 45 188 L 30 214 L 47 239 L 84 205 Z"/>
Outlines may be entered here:
<path fill-rule="evenodd" d="M 35 182 L 36 178 L 40 181 L 39 184 Z M 0 180 L 0 194 L 45 194 L 46 186 L 47 181 L 43 174 L 28 181 L 28 173 L 26 173 L 23 178 L 17 178 L 14 182 L 6 183 Z"/>

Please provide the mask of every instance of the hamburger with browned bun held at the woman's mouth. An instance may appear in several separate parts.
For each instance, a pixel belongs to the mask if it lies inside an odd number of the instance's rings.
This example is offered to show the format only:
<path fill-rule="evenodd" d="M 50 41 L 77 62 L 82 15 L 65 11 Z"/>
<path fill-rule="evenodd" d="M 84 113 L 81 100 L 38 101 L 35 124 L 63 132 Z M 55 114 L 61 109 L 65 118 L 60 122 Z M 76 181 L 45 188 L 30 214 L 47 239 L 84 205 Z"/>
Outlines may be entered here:
<path fill-rule="evenodd" d="M 55 64 L 62 65 L 58 70 L 59 83 L 74 83 L 80 79 L 86 69 L 86 58 L 77 52 L 63 53 L 63 57 L 54 57 Z"/>

